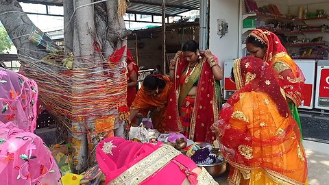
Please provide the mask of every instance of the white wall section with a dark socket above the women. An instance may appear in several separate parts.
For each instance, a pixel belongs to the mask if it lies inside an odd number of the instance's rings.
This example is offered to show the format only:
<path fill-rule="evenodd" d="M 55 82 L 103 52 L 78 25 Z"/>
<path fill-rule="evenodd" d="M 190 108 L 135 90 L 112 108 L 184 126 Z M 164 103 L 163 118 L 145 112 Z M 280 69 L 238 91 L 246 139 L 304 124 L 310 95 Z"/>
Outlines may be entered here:
<path fill-rule="evenodd" d="M 223 67 L 224 61 L 238 57 L 239 50 L 239 0 L 210 0 L 209 49 L 219 58 Z M 217 19 L 228 23 L 228 34 L 219 38 Z"/>

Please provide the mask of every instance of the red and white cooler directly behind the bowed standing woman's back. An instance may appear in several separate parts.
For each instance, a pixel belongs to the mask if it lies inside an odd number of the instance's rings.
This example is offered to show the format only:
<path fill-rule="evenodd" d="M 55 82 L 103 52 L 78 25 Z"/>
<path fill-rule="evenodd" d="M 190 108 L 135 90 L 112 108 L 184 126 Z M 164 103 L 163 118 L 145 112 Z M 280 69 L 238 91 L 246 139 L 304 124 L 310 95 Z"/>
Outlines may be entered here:
<path fill-rule="evenodd" d="M 315 66 L 316 60 L 294 60 L 302 70 L 305 77 L 305 85 L 303 90 L 304 100 L 302 106 L 298 108 L 313 109 L 314 93 L 315 93 Z"/>

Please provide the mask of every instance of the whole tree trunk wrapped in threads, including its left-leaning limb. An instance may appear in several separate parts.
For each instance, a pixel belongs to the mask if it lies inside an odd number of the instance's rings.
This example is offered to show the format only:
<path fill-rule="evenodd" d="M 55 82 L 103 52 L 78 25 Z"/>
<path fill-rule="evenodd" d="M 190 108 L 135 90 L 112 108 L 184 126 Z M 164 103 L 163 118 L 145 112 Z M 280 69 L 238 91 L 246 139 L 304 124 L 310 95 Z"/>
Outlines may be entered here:
<path fill-rule="evenodd" d="M 97 85 L 103 86 L 102 82 L 106 82 L 108 77 L 101 75 L 103 73 L 101 64 L 106 62 L 114 47 L 127 45 L 127 35 L 131 33 L 125 29 L 123 17 L 118 16 L 118 1 L 110 0 L 95 5 L 88 5 L 90 3 L 93 3 L 93 0 L 64 0 L 64 50 L 66 52 L 73 51 L 73 69 L 81 72 L 80 75 L 73 75 L 70 78 L 71 84 L 68 86 L 70 89 L 68 89 L 69 93 L 66 92 L 66 94 L 69 94 L 67 97 L 70 98 L 71 102 L 77 102 L 75 101 L 77 97 L 81 93 L 86 92 L 86 89 L 90 89 L 90 86 L 86 87 L 86 79 L 90 80 L 92 78 L 94 82 L 97 82 L 93 84 L 93 87 Z M 95 10 L 94 6 L 96 7 Z M 100 12 L 96 11 L 98 8 L 101 10 Z M 75 10 L 75 14 L 73 14 L 73 10 Z M 49 54 L 40 51 L 36 45 L 29 41 L 29 35 L 35 26 L 16 0 L 0 0 L 0 21 L 8 31 L 20 54 L 37 59 L 42 59 Z M 95 52 L 93 47 L 95 41 L 101 45 L 103 57 L 98 52 Z M 125 60 L 125 57 L 121 58 L 121 61 L 123 60 Z M 119 64 L 117 68 L 123 69 L 122 64 Z M 49 70 L 52 70 L 51 66 L 49 66 Z M 95 74 L 95 76 L 90 75 L 90 72 Z M 88 75 L 86 75 L 87 73 Z M 119 82 L 119 79 L 122 78 L 122 73 L 116 73 L 111 80 L 112 82 L 116 82 L 116 80 Z M 40 81 L 39 83 L 47 82 Z M 56 85 L 58 84 L 53 84 L 53 86 Z M 125 92 L 117 92 L 117 94 L 120 93 Z M 40 93 L 40 97 L 42 97 L 42 93 Z M 95 97 L 95 99 L 97 98 Z M 103 97 L 101 98 L 103 99 Z M 72 112 L 76 112 L 77 109 L 74 103 L 69 106 L 73 107 Z M 116 109 L 114 110 L 117 111 Z M 103 110 L 101 114 L 105 116 L 113 114 L 114 110 L 108 108 L 108 110 Z M 111 111 L 112 113 L 110 113 Z M 88 119 L 86 115 L 88 115 L 88 112 L 82 116 L 74 114 L 71 120 L 74 149 L 73 163 L 75 171 L 78 173 L 81 173 L 88 167 L 88 162 L 94 162 L 95 156 L 88 161 L 90 155 L 88 151 L 94 149 L 99 138 L 101 138 L 95 134 L 95 119 Z M 87 132 L 92 133 L 88 133 L 87 136 Z"/>

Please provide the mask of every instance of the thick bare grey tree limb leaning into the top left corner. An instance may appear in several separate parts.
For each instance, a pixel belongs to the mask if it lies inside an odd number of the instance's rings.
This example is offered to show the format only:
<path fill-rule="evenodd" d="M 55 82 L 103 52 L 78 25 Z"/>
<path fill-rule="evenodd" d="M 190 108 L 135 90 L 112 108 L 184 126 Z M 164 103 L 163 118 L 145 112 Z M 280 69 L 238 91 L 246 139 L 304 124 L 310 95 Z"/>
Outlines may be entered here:
<path fill-rule="evenodd" d="M 16 0 L 0 0 L 0 21 L 7 30 L 19 54 L 43 58 L 47 53 L 40 51 L 36 45 L 29 42 L 29 35 L 35 27 L 21 5 Z"/>

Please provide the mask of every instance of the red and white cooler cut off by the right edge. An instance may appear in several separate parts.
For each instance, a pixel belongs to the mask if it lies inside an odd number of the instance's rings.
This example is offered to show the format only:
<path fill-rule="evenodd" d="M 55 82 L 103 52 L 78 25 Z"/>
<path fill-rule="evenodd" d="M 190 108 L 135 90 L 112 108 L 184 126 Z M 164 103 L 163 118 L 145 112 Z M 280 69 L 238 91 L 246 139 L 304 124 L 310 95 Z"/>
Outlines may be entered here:
<path fill-rule="evenodd" d="M 315 108 L 329 110 L 329 60 L 318 60 L 317 62 Z"/>

